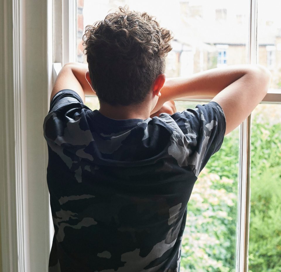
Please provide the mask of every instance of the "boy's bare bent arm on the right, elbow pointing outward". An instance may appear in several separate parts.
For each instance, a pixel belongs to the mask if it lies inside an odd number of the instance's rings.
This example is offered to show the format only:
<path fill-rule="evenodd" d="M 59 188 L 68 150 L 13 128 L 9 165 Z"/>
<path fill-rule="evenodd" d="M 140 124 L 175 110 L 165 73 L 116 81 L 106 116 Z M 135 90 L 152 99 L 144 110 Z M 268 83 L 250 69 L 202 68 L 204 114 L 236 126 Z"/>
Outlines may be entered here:
<path fill-rule="evenodd" d="M 180 97 L 213 97 L 225 113 L 228 134 L 246 119 L 269 88 L 270 72 L 260 65 L 211 69 L 186 78 L 168 78 L 153 112 Z"/>

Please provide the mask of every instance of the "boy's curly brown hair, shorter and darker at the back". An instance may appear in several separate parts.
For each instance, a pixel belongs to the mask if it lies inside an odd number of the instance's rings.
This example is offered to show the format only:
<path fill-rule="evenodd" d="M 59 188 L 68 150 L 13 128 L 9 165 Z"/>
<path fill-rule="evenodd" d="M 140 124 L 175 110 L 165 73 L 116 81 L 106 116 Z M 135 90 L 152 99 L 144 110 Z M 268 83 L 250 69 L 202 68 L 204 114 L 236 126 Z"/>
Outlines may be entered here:
<path fill-rule="evenodd" d="M 148 13 L 128 7 L 87 25 L 83 35 L 92 87 L 101 102 L 131 105 L 144 101 L 165 71 L 172 32 Z"/>

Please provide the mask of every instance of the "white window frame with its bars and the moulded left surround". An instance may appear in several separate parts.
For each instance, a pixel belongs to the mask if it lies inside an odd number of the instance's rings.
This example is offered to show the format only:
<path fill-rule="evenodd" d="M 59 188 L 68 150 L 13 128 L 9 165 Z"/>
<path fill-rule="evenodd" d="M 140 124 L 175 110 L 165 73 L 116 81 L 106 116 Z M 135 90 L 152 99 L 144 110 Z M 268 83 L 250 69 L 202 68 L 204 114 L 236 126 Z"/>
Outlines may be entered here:
<path fill-rule="evenodd" d="M 249 0 L 250 64 L 257 61 L 257 1 Z M 54 79 L 61 64 L 76 61 L 76 30 L 73 29 L 76 1 L 1 0 L 1 4 L 0 126 L 4 128 L 0 130 L 2 270 L 47 271 L 53 226 L 49 214 L 47 145 L 42 135 L 42 123 L 48 112 L 52 74 Z M 33 50 L 35 45 L 36 50 Z M 53 65 L 52 71 L 52 64 L 56 62 L 59 64 Z M 193 97 L 181 100 L 208 102 L 210 99 Z M 270 90 L 262 102 L 281 103 L 280 90 Z M 250 121 L 251 116 L 240 126 L 237 272 L 248 271 Z"/>

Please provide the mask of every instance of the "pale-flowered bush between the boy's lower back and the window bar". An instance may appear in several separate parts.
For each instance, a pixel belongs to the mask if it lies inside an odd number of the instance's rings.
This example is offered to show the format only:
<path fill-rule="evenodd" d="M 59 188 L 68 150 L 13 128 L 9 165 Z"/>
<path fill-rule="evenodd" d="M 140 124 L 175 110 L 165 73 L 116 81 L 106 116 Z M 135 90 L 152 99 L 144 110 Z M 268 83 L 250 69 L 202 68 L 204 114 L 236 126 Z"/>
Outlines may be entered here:
<path fill-rule="evenodd" d="M 233 180 L 220 178 L 205 170 L 200 183 L 193 189 L 188 205 L 188 215 L 182 242 L 181 266 L 185 271 L 230 271 L 225 264 L 234 266 L 236 194 L 225 187 L 233 186 Z M 218 189 L 217 184 L 221 184 Z M 234 215 L 234 218 L 230 215 Z M 234 223 L 235 224 L 235 223 Z M 232 233 L 230 239 L 225 239 Z"/>

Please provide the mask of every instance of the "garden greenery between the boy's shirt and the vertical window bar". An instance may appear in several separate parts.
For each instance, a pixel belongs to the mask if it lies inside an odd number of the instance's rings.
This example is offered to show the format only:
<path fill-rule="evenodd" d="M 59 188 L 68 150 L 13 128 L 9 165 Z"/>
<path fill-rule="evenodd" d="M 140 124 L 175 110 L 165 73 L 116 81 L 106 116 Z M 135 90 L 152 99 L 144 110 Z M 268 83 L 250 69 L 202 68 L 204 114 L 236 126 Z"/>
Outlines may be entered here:
<path fill-rule="evenodd" d="M 201 172 L 187 206 L 181 271 L 235 271 L 239 130 Z"/>

